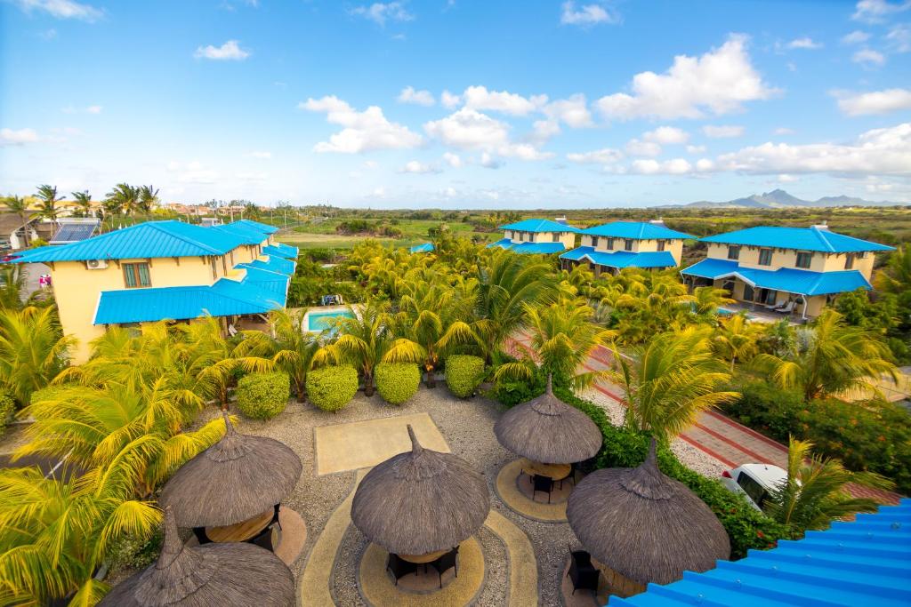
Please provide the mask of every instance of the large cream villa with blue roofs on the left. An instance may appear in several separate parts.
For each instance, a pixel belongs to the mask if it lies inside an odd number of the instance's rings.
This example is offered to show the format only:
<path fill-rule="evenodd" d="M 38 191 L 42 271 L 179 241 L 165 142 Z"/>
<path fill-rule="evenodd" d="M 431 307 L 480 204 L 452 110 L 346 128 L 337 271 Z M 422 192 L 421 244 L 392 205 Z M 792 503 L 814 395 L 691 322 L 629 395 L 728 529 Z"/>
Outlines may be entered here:
<path fill-rule="evenodd" d="M 51 268 L 60 323 L 78 340 L 72 351 L 81 363 L 107 326 L 210 315 L 230 330 L 283 308 L 297 248 L 276 243 L 276 231 L 250 220 L 211 228 L 149 221 L 15 262 Z"/>

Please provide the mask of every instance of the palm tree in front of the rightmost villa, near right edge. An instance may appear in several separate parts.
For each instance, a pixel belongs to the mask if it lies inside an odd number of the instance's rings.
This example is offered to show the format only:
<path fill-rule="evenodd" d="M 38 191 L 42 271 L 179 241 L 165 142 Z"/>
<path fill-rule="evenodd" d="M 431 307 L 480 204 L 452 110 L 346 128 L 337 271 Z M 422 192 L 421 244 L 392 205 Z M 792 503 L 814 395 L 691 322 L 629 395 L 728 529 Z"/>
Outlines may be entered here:
<path fill-rule="evenodd" d="M 787 358 L 759 354 L 753 365 L 782 388 L 800 389 L 807 402 L 853 389 L 876 393 L 884 374 L 898 379 L 882 336 L 845 324 L 834 309 L 824 309 L 802 337 L 797 351 Z"/>

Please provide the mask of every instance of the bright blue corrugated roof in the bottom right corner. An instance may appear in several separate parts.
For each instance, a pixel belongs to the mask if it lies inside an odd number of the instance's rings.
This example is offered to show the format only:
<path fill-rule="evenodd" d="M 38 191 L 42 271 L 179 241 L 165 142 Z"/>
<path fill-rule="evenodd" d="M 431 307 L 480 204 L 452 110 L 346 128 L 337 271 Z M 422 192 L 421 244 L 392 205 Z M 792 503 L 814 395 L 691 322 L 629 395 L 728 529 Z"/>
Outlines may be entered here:
<path fill-rule="evenodd" d="M 911 604 L 911 500 L 883 506 L 855 521 L 836 521 L 803 540 L 781 540 L 769 551 L 751 550 L 740 561 L 718 561 L 704 573 L 685 572 L 679 582 L 649 584 L 610 607 L 737 605 Z"/>

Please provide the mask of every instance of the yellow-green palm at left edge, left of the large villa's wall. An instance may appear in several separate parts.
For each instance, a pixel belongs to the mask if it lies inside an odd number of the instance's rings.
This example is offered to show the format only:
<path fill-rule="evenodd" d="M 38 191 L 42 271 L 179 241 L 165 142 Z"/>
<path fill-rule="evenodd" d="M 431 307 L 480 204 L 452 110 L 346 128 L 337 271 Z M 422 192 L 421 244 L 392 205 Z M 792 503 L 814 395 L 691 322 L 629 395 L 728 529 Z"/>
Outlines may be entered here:
<path fill-rule="evenodd" d="M 62 335 L 55 308 L 6 309 L 0 313 L 0 386 L 26 405 L 67 366 L 74 343 Z"/>

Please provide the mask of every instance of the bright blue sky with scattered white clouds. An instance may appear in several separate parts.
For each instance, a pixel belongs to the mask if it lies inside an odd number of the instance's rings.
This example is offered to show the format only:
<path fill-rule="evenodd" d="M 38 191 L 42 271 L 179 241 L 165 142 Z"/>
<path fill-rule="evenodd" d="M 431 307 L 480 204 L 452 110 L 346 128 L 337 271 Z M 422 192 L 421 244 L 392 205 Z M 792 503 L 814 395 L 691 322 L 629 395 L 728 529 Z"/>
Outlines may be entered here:
<path fill-rule="evenodd" d="M 911 200 L 911 0 L 0 0 L 0 194 Z"/>

